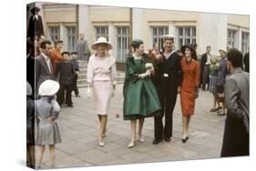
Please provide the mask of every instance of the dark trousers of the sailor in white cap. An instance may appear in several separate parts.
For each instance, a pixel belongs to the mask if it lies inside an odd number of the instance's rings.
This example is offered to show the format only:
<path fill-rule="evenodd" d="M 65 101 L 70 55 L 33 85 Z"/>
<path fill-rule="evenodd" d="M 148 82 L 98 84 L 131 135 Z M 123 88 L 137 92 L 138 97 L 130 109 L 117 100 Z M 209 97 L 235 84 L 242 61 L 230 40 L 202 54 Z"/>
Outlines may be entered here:
<path fill-rule="evenodd" d="M 172 118 L 173 109 L 177 100 L 177 84 L 157 84 L 157 90 L 159 93 L 159 100 L 161 104 L 160 116 L 154 117 L 154 130 L 155 139 L 162 139 L 163 137 L 172 136 Z M 165 125 L 163 126 L 163 116 L 165 116 Z"/>

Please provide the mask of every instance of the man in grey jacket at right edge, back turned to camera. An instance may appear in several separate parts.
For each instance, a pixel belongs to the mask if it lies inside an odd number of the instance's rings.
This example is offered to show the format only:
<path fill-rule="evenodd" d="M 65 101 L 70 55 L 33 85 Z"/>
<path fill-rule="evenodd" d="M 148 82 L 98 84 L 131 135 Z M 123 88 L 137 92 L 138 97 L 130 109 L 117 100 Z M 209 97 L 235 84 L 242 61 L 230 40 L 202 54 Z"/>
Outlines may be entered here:
<path fill-rule="evenodd" d="M 228 53 L 228 70 L 224 87 L 228 109 L 220 156 L 249 156 L 249 73 L 241 70 L 242 54 Z"/>

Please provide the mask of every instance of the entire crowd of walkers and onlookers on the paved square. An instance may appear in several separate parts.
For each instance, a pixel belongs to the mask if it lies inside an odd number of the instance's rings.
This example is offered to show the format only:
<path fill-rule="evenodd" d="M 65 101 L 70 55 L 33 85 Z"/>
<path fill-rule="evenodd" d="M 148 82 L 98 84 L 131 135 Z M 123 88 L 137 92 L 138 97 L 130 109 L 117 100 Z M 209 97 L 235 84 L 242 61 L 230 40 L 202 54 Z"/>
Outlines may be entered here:
<path fill-rule="evenodd" d="M 38 10 L 35 8 L 33 13 Z M 31 23 L 39 18 L 35 13 Z M 108 109 L 117 85 L 116 59 L 108 52 L 113 45 L 105 37 L 98 37 L 91 45 L 95 53 L 88 57 L 84 34 L 80 34 L 77 51 L 63 52 L 63 41 L 56 40 L 53 48 L 53 43 L 40 29 L 39 26 L 36 31 L 28 30 L 27 34 L 27 153 L 31 167 L 36 166 L 34 146 L 39 146 L 38 166 L 41 166 L 45 146 L 49 146 L 51 166 L 55 166 L 55 145 L 61 143 L 57 117 L 65 104 L 75 107 L 72 91 L 80 97 L 77 59 L 88 61 L 87 97 L 92 98 L 96 106 L 99 146 L 106 146 Z M 180 140 L 186 143 L 190 117 L 196 115 L 196 99 L 201 88 L 203 93 L 209 90 L 213 95 L 210 112 L 220 116 L 227 114 L 221 156 L 249 155 L 249 53 L 243 57 L 235 48 L 229 47 L 227 51 L 222 48 L 218 58 L 210 54 L 210 45 L 207 45 L 206 53 L 200 57 L 197 45 L 186 44 L 175 49 L 174 40 L 174 35 L 164 35 L 163 49 L 154 44 L 148 53 L 143 40 L 131 41 L 123 86 L 123 118 L 130 121 L 131 130 L 128 148 L 136 146 L 137 140 L 144 142 L 142 132 L 146 117 L 154 119 L 152 144 L 157 146 L 162 140 L 171 142 L 173 110 L 178 96 L 182 116 Z M 32 131 L 34 126 L 36 132 Z"/>

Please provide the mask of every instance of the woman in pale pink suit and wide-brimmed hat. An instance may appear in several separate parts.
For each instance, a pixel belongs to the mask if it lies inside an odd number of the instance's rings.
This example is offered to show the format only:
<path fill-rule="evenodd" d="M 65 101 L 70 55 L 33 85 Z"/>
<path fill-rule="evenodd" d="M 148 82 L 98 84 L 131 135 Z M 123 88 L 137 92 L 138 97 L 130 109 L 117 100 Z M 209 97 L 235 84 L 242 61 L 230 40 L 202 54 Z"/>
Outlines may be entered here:
<path fill-rule="evenodd" d="M 108 55 L 112 45 L 104 37 L 99 37 L 91 47 L 96 54 L 89 57 L 87 65 L 87 96 L 93 96 L 100 123 L 98 145 L 105 146 L 103 137 L 106 136 L 110 98 L 117 84 L 116 59 Z"/>

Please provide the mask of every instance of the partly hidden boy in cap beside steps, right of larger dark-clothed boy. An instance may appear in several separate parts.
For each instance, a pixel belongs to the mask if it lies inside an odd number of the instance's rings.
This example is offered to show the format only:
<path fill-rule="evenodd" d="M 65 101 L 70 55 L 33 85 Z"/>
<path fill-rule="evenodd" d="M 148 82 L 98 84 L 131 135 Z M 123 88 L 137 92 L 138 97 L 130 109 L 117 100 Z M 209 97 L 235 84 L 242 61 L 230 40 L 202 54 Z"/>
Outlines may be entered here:
<path fill-rule="evenodd" d="M 79 74 L 79 65 L 78 65 L 78 61 L 77 61 L 77 52 L 72 52 L 71 53 L 71 60 L 70 60 L 70 63 L 73 65 L 75 71 L 76 71 L 76 75 L 75 75 L 75 78 L 74 78 L 74 82 L 73 82 L 73 89 L 72 91 L 74 90 L 75 92 L 75 95 L 77 97 L 80 97 L 79 96 L 79 91 L 78 91 L 78 88 L 77 88 L 77 78 L 78 78 L 78 74 Z"/>

